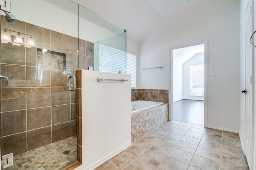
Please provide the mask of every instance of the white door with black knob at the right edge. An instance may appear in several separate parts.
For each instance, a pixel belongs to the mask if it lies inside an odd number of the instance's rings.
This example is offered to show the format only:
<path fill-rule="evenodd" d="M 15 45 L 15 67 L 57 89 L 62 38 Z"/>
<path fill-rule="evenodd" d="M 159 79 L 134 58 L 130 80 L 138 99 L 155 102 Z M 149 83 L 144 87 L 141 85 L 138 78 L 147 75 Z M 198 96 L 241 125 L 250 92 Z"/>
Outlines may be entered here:
<path fill-rule="evenodd" d="M 245 13 L 245 155 L 248 166 L 251 169 L 252 164 L 252 113 L 254 113 L 254 96 L 253 96 L 253 70 L 254 59 L 253 48 L 250 44 L 250 36 L 252 35 L 252 1 L 249 0 Z"/>

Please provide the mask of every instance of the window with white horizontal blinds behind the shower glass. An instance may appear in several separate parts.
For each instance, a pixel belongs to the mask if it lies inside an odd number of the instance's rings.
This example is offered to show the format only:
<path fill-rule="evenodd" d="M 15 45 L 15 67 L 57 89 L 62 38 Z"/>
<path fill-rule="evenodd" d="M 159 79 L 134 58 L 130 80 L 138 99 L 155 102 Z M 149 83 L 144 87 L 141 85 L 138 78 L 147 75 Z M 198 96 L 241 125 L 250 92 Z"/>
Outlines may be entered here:
<path fill-rule="evenodd" d="M 102 72 L 114 72 L 131 74 L 132 88 L 136 88 L 136 56 L 107 47 L 99 45 L 99 70 Z"/>

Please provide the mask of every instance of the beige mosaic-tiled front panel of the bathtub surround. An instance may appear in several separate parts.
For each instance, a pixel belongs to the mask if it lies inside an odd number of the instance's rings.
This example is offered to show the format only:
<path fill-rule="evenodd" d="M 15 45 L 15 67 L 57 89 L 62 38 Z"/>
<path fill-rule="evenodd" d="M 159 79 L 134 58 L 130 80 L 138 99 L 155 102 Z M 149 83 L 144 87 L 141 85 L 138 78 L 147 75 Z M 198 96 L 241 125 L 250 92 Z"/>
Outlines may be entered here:
<path fill-rule="evenodd" d="M 168 104 L 132 113 L 132 143 L 168 120 Z"/>

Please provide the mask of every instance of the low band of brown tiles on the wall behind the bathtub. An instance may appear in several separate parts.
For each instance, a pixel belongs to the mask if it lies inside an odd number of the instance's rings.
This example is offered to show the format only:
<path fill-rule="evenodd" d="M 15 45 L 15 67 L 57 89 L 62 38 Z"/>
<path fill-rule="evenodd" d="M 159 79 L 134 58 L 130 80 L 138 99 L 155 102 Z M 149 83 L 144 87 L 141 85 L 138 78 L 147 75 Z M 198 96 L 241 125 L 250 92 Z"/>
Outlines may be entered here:
<path fill-rule="evenodd" d="M 168 103 L 169 90 L 132 89 L 132 101 L 147 100 Z"/>

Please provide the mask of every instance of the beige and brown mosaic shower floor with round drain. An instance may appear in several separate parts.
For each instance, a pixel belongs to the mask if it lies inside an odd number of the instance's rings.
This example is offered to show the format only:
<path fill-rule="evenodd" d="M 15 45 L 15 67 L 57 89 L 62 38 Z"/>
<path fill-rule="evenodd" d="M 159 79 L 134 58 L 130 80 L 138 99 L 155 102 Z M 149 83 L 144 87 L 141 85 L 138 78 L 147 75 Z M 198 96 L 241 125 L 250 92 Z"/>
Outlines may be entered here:
<path fill-rule="evenodd" d="M 70 153 L 63 154 L 70 150 Z M 61 170 L 77 161 L 76 137 L 14 156 L 14 163 L 5 170 Z"/>

